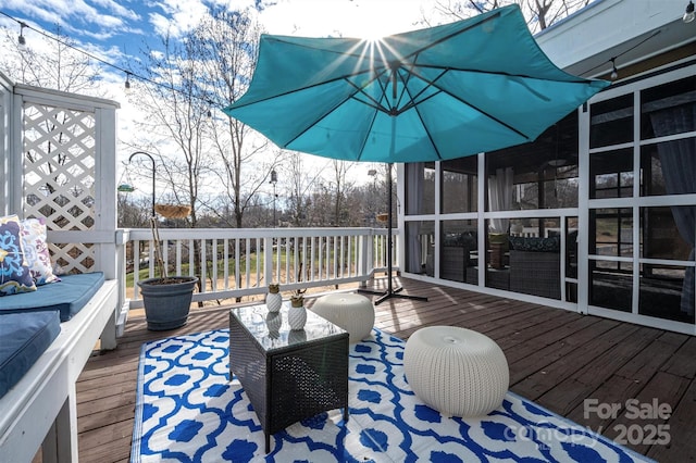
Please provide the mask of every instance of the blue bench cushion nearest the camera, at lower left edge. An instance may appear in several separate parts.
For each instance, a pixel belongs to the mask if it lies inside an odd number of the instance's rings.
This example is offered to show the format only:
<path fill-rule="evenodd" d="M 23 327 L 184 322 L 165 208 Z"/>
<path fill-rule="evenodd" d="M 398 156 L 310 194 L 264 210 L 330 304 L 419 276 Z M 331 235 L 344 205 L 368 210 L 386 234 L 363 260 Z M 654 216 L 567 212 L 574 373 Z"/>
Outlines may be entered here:
<path fill-rule="evenodd" d="M 60 331 L 58 311 L 0 315 L 0 397 L 22 379 Z"/>

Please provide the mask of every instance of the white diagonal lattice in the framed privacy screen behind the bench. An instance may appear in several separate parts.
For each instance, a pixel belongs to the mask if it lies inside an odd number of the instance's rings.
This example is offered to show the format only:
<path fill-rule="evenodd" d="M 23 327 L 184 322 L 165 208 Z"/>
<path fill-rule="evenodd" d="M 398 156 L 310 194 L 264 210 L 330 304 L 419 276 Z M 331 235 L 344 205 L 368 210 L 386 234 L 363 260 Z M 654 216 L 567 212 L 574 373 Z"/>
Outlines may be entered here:
<path fill-rule="evenodd" d="M 42 216 L 51 230 L 95 226 L 95 113 L 45 104 L 24 105 L 24 215 Z M 88 272 L 86 243 L 53 246 L 65 272 Z"/>

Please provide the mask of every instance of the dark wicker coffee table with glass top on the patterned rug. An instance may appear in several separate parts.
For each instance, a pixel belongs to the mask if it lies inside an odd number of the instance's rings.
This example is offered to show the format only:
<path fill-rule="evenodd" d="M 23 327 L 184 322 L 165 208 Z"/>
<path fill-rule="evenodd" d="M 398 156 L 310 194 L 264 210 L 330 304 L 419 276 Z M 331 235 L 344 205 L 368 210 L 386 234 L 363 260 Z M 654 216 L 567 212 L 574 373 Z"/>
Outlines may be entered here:
<path fill-rule="evenodd" d="M 340 408 L 348 420 L 348 331 L 309 310 L 304 329 L 290 330 L 288 308 L 229 311 L 229 378 L 249 397 L 266 453 L 271 435 L 300 420 Z"/>

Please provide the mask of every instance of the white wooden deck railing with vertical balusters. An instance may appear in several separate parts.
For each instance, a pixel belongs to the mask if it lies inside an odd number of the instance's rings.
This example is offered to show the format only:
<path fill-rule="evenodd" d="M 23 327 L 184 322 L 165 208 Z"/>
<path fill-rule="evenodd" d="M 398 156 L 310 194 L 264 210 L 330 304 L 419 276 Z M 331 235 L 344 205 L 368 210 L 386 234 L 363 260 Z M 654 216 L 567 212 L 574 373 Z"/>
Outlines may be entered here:
<path fill-rule="evenodd" d="M 264 295 L 272 281 L 284 291 L 365 281 L 386 268 L 384 228 L 162 228 L 159 235 L 167 274 L 200 278 L 194 301 Z M 396 258 L 397 229 L 394 235 Z M 160 276 L 152 233 L 129 229 L 124 238 L 125 292 L 132 309 L 141 308 L 137 283 Z"/>

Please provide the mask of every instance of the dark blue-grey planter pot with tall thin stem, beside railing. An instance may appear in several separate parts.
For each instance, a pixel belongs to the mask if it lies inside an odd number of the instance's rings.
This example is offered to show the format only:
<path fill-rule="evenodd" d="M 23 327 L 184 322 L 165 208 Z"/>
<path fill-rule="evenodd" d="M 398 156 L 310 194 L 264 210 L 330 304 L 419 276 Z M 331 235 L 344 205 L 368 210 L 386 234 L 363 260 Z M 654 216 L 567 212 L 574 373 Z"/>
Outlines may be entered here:
<path fill-rule="evenodd" d="M 159 276 L 138 281 L 148 329 L 174 329 L 185 325 L 188 320 L 188 312 L 194 297 L 194 289 L 198 284 L 198 277 L 167 275 L 166 264 L 162 260 L 161 241 L 154 212 L 167 218 L 182 218 L 190 213 L 190 208 L 171 204 L 157 204 L 153 208 L 150 228 L 154 246 L 156 268 L 159 271 Z"/>

